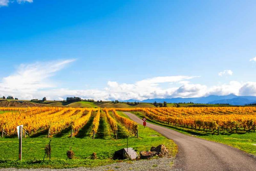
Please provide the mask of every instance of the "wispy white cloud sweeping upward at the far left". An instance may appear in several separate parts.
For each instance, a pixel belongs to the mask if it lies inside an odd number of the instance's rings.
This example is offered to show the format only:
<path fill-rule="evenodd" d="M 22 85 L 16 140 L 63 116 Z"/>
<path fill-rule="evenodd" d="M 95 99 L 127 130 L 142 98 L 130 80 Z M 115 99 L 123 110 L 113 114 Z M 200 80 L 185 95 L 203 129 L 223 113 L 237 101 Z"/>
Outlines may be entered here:
<path fill-rule="evenodd" d="M 29 93 L 36 93 L 40 89 L 53 88 L 55 85 L 48 78 L 73 61 L 75 59 L 21 64 L 15 73 L 2 79 L 0 91 L 9 94 L 26 94 L 27 97 Z"/>

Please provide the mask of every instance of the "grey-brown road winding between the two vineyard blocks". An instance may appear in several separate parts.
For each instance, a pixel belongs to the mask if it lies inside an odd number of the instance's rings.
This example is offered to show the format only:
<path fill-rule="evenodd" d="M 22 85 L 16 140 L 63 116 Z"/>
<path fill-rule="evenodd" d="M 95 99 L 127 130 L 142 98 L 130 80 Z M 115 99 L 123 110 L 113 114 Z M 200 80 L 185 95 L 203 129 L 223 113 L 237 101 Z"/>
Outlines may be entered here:
<path fill-rule="evenodd" d="M 124 112 L 130 119 L 142 124 L 136 115 Z M 177 170 L 232 170 L 255 171 L 256 158 L 225 144 L 188 136 L 169 128 L 147 122 L 147 127 L 172 139 L 179 148 L 172 169 Z"/>

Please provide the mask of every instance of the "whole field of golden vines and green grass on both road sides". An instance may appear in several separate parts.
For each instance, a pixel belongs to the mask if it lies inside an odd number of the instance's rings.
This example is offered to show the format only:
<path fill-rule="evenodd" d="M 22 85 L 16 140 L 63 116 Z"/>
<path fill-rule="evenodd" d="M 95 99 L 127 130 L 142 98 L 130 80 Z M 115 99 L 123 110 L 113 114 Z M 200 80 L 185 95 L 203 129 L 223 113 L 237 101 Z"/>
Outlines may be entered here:
<path fill-rule="evenodd" d="M 58 103 L 58 102 L 57 102 Z M 163 107 L 163 108 L 81 108 L 81 107 L 28 107 L 0 108 L 0 138 L 2 160 L 0 167 L 78 167 L 99 166 L 116 162 L 111 159 L 116 150 L 129 146 L 137 152 L 151 146 L 165 144 L 175 156 L 176 145 L 150 128 L 130 120 L 123 112 L 146 117 L 149 122 L 169 127 L 185 134 L 232 145 L 256 154 L 254 138 L 256 107 Z M 15 163 L 18 153 L 16 126 L 24 125 L 29 133 L 23 138 L 24 162 Z M 219 129 L 219 135 L 218 135 Z M 71 130 L 73 137 L 71 138 Z M 136 133 L 139 131 L 139 138 Z M 48 132 L 50 133 L 48 138 Z M 117 133 L 117 139 L 116 139 Z M 93 134 L 94 139 L 93 139 Z M 154 135 L 154 136 L 152 136 Z M 53 163 L 42 163 L 44 147 L 52 139 Z M 239 141 L 234 141 L 239 139 Z M 244 141 L 246 141 L 244 143 Z M 243 144 L 243 146 L 239 145 Z M 67 160 L 69 147 L 76 159 Z M 90 159 L 93 152 L 98 160 Z M 1 159 L 1 158 L 0 158 Z M 34 165 L 32 160 L 40 165 Z M 61 162 L 60 162 L 61 160 Z M 85 161 L 86 160 L 86 161 Z M 32 162 L 26 164 L 26 162 Z M 56 164 L 57 163 L 57 164 Z M 59 164 L 58 164 L 59 163 Z M 62 164 L 60 164 L 62 163 Z"/>

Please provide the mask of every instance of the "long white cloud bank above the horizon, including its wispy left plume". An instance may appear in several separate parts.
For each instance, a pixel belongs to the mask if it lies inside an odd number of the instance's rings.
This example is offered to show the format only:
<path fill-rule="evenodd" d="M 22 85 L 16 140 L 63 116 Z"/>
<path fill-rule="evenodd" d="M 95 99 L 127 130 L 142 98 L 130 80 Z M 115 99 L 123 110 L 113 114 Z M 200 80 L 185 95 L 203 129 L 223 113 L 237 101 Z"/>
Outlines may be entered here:
<path fill-rule="evenodd" d="M 17 71 L 0 82 L 0 96 L 19 99 L 63 100 L 78 96 L 95 100 L 144 100 L 150 98 L 202 97 L 208 95 L 252 95 L 256 96 L 256 82 L 231 81 L 228 84 L 207 87 L 190 83 L 195 76 L 165 76 L 144 79 L 131 84 L 108 81 L 102 89 L 57 88 L 50 78 L 74 59 L 21 64 Z M 165 84 L 173 83 L 173 84 Z M 166 87 L 167 85 L 167 87 Z M 165 88 L 164 88 L 165 87 Z"/>

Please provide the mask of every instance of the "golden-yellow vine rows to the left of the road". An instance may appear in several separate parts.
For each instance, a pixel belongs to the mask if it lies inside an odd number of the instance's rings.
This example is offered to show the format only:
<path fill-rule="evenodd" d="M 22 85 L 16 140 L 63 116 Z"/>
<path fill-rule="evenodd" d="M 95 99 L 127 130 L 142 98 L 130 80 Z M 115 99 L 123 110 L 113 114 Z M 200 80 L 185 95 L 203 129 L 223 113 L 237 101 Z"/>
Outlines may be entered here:
<path fill-rule="evenodd" d="M 91 133 L 94 139 L 100 125 L 100 115 L 106 116 L 108 124 L 117 138 L 117 125 L 129 135 L 136 135 L 138 124 L 117 114 L 115 109 L 100 108 L 72 108 L 72 107 L 28 107 L 28 108 L 0 108 L 5 111 L 0 115 L 0 129 L 11 136 L 17 133 L 16 127 L 23 125 L 24 136 L 48 132 L 48 137 L 60 134 L 63 130 L 71 129 L 70 136 L 76 136 L 79 131 L 88 126 L 92 120 Z M 103 113 L 106 113 L 104 115 Z M 125 131 L 124 131 L 125 130 Z M 87 131 L 88 132 L 88 131 Z M 81 135 L 81 134 L 80 134 Z M 91 135 L 91 134 L 89 134 Z"/>

